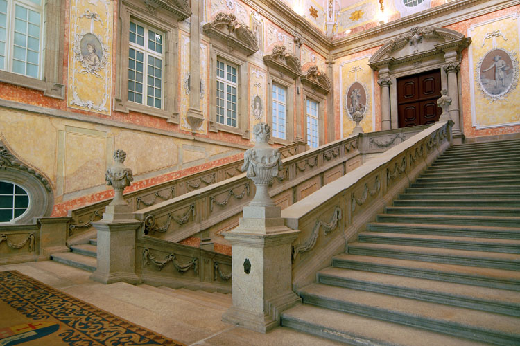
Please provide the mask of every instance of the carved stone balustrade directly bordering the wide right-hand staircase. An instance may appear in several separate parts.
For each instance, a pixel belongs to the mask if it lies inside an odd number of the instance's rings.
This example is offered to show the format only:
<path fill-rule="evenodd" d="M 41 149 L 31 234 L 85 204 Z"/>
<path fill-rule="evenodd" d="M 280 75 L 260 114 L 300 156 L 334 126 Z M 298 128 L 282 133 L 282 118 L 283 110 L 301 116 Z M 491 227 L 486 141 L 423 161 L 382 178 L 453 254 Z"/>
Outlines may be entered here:
<path fill-rule="evenodd" d="M 293 289 L 314 282 L 315 273 L 325 263 L 331 263 L 334 255 L 345 251 L 348 242 L 366 229 L 367 222 L 374 219 L 376 212 L 449 147 L 452 125 L 453 122 L 437 122 L 282 210 L 286 226 L 300 230 L 294 243 Z M 388 131 L 385 136 L 393 137 L 395 133 Z M 365 142 L 365 145 L 369 144 L 369 141 Z M 428 145 L 431 149 L 426 153 L 424 148 Z M 410 156 L 413 159 L 408 159 Z M 375 198 L 376 195 L 379 198 Z M 343 232 L 319 237 L 321 221 L 316 220 L 330 215 L 336 208 L 345 210 Z M 301 256 L 302 253 L 306 255 Z"/>

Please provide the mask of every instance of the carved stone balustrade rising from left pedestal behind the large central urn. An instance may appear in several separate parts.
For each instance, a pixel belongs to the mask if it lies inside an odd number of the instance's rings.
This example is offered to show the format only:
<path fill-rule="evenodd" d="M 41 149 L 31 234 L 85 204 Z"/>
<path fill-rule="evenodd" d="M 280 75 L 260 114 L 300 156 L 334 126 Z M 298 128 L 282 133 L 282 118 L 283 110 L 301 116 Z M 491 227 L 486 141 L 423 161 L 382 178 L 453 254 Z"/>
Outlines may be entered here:
<path fill-rule="evenodd" d="M 424 127 L 419 127 L 424 129 Z M 358 148 L 368 147 L 367 143 L 370 138 L 380 138 L 383 136 L 393 136 L 399 132 L 402 136 L 412 136 L 419 130 L 415 129 L 399 129 L 392 131 L 383 131 L 379 133 L 360 134 L 351 136 L 342 140 L 336 140 L 332 143 L 324 145 L 320 148 L 312 149 L 302 154 L 297 154 L 291 158 L 282 160 L 283 167 L 270 187 L 270 196 L 283 194 L 293 195 L 293 190 L 304 187 L 307 181 L 320 177 L 323 184 L 327 183 L 324 174 L 330 170 L 338 170 L 339 166 L 343 166 L 340 174 L 347 171 L 347 161 L 354 160 L 361 155 Z M 364 143 L 364 144 L 363 144 Z M 379 149 L 382 152 L 381 149 Z M 376 152 L 372 150 L 371 152 Z M 358 161 L 361 161 L 358 159 Z M 379 178 L 383 181 L 383 178 Z M 318 179 L 317 179 L 318 180 Z M 144 208 L 134 213 L 135 218 L 145 220 L 149 215 L 158 220 L 160 225 L 165 225 L 170 215 L 184 212 L 188 206 L 194 204 L 196 210 L 200 210 L 197 219 L 190 219 L 187 224 L 182 227 L 175 224 L 168 224 L 168 230 L 164 233 L 155 232 L 153 237 L 159 237 L 170 242 L 180 242 L 187 237 L 196 236 L 198 233 L 208 230 L 212 226 L 220 223 L 234 224 L 238 221 L 243 206 L 248 204 L 254 196 L 254 190 L 250 194 L 247 193 L 248 180 L 245 174 L 235 174 L 226 181 L 220 181 L 216 184 L 199 188 L 196 191 L 183 194 L 168 201 Z M 372 184 L 372 183 L 371 183 Z M 320 185 L 321 186 L 321 185 Z M 252 186 L 251 189 L 254 189 Z M 238 194 L 237 198 L 231 198 Z M 288 203 L 294 202 L 294 199 L 287 199 Z M 215 204 L 222 208 L 215 208 Z"/>

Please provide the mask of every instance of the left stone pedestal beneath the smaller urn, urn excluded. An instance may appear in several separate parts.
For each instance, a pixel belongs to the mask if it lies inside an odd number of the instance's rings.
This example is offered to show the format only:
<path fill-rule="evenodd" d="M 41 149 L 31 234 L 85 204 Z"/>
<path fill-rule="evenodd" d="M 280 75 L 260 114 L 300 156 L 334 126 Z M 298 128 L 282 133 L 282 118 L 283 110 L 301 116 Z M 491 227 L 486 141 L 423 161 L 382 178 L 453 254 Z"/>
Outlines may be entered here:
<path fill-rule="evenodd" d="M 135 237 L 142 221 L 111 221 L 105 219 L 105 215 L 101 221 L 92 223 L 98 230 L 98 266 L 92 280 L 103 284 L 119 281 L 141 283 L 142 280 L 135 275 Z"/>

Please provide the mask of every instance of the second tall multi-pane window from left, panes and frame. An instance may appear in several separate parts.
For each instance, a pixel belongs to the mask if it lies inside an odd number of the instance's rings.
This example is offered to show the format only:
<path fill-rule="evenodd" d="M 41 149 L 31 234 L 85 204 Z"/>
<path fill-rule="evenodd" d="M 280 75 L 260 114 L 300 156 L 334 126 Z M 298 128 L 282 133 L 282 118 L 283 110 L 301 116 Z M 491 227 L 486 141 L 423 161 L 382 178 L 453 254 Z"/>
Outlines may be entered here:
<path fill-rule="evenodd" d="M 162 109 L 163 37 L 153 28 L 130 21 L 128 101 Z"/>

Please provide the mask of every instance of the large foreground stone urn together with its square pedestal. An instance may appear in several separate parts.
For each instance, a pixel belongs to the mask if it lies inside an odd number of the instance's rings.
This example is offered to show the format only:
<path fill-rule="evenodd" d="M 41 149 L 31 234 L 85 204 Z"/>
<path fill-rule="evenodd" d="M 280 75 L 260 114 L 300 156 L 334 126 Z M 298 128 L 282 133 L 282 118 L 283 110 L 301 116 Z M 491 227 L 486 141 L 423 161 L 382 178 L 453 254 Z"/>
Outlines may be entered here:
<path fill-rule="evenodd" d="M 299 230 L 285 226 L 281 208 L 269 197 L 268 187 L 281 168 L 277 149 L 267 144 L 270 127 L 254 125 L 257 143 L 244 156 L 257 192 L 244 207 L 239 227 L 225 234 L 232 244 L 233 305 L 225 322 L 265 333 L 280 324 L 280 314 L 300 302 L 292 290 L 291 243 Z"/>

